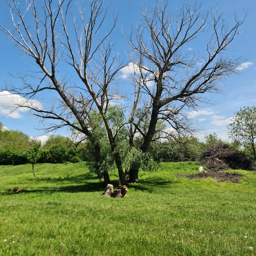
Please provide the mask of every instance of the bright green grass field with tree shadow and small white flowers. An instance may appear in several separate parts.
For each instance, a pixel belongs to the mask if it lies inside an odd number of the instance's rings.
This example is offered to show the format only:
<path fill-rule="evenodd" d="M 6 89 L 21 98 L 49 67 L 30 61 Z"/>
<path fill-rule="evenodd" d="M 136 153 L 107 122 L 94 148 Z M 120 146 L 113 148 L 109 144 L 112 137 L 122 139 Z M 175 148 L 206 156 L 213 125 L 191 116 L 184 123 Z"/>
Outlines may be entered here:
<path fill-rule="evenodd" d="M 36 178 L 0 166 L 0 255 L 256 255 L 255 172 L 232 184 L 176 177 L 196 162 L 162 167 L 110 198 L 84 163 L 36 164 Z"/>

